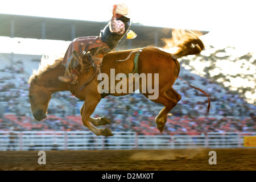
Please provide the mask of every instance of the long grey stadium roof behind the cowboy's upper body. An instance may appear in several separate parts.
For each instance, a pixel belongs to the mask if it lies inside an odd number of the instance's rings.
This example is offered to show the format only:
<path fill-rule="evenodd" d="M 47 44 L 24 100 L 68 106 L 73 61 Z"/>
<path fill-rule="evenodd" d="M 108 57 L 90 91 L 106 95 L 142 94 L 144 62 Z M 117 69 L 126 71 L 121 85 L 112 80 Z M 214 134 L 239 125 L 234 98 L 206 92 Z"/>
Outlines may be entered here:
<path fill-rule="evenodd" d="M 0 14 L 0 36 L 71 41 L 82 36 L 97 36 L 108 22 L 44 18 Z M 122 39 L 119 47 L 163 46 L 162 38 L 171 38 L 172 28 L 150 27 L 132 23 L 136 39 Z M 204 32 L 205 33 L 205 32 Z"/>

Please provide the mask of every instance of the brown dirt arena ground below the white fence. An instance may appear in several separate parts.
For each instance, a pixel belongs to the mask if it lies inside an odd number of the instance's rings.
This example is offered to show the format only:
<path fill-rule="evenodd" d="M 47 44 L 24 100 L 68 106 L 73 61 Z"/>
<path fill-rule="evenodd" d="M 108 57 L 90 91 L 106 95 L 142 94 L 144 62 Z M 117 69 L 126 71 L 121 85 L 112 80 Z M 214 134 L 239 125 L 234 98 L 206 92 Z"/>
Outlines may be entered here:
<path fill-rule="evenodd" d="M 217 164 L 209 164 L 216 151 Z M 189 150 L 0 151 L 0 170 L 11 171 L 205 171 L 256 170 L 256 148 Z"/>

